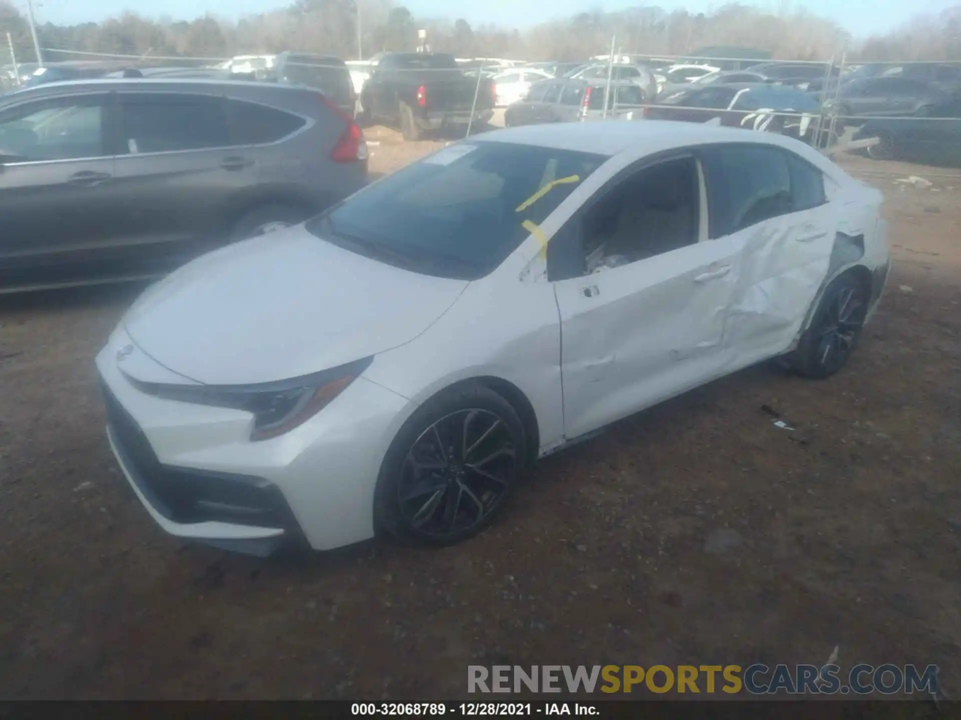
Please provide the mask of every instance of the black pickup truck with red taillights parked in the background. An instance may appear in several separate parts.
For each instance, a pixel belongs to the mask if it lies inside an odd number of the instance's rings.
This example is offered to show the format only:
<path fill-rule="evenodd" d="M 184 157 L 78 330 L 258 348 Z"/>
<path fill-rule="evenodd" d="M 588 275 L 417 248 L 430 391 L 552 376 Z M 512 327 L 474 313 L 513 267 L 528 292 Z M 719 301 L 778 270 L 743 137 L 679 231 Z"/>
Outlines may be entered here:
<path fill-rule="evenodd" d="M 477 94 L 474 123 L 494 114 L 494 89 L 487 78 L 464 75 L 453 55 L 381 53 L 371 59 L 370 77 L 360 93 L 366 119 L 400 126 L 405 140 L 443 126 L 466 126 Z"/>

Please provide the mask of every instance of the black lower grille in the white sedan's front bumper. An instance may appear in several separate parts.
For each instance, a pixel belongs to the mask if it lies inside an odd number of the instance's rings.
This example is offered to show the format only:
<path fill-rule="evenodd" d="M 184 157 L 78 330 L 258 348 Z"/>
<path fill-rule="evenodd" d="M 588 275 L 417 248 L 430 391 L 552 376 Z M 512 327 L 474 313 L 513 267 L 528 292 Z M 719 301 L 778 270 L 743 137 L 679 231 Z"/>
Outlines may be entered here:
<path fill-rule="evenodd" d="M 263 478 L 162 465 L 136 420 L 110 388 L 102 388 L 117 454 L 160 515 L 181 523 L 215 520 L 297 529 L 283 493 Z"/>

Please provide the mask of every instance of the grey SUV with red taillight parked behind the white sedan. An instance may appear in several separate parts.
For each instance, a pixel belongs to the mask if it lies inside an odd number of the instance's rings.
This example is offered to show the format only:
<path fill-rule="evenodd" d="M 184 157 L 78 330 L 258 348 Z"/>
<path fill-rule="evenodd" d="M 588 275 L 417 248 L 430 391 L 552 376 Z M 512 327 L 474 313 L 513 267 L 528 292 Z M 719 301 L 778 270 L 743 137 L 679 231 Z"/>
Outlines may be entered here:
<path fill-rule="evenodd" d="M 0 292 L 156 276 L 293 225 L 367 177 L 315 89 L 209 80 L 47 84 L 0 99 Z"/>

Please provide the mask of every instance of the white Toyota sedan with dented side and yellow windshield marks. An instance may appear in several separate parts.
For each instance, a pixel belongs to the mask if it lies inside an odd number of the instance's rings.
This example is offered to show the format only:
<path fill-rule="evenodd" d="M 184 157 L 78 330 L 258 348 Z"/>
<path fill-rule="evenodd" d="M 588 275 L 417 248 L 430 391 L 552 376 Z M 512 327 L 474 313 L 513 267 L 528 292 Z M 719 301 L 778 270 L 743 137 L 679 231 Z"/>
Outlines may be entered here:
<path fill-rule="evenodd" d="M 838 372 L 880 204 L 770 133 L 485 133 L 149 288 L 97 357 L 111 447 L 180 538 L 462 540 L 614 420 L 768 358 Z"/>

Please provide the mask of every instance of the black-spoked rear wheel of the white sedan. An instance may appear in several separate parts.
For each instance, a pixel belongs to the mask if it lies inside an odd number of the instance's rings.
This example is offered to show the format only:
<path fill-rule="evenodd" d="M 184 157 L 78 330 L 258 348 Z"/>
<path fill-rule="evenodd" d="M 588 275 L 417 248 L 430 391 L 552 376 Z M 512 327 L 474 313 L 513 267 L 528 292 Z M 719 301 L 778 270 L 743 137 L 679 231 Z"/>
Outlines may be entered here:
<path fill-rule="evenodd" d="M 869 296 L 870 288 L 850 273 L 834 278 L 791 357 L 793 369 L 822 380 L 844 368 L 861 337 Z"/>

